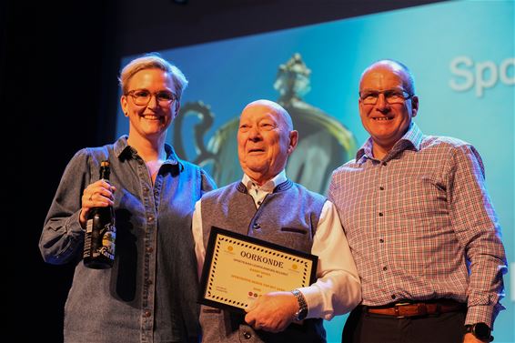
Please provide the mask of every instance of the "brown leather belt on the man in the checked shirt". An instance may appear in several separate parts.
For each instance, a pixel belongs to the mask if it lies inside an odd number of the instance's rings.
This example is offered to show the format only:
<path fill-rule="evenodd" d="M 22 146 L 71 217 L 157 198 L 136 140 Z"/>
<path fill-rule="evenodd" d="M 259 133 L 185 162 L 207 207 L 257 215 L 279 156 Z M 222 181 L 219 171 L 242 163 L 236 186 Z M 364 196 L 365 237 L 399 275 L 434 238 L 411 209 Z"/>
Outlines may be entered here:
<path fill-rule="evenodd" d="M 458 301 L 444 299 L 436 302 L 399 302 L 390 306 L 364 307 L 364 309 L 368 313 L 377 315 L 407 318 L 462 311 L 466 306 Z"/>

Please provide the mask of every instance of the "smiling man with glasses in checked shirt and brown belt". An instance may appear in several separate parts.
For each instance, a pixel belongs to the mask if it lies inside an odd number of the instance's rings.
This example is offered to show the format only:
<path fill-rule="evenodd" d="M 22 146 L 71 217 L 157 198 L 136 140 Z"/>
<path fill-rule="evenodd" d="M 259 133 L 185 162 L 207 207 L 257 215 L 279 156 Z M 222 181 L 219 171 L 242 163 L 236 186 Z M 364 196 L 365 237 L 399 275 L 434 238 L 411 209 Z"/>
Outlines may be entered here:
<path fill-rule="evenodd" d="M 407 66 L 381 60 L 359 83 L 370 137 L 338 167 L 328 198 L 361 278 L 343 342 L 489 342 L 507 271 L 477 150 L 425 136 Z"/>

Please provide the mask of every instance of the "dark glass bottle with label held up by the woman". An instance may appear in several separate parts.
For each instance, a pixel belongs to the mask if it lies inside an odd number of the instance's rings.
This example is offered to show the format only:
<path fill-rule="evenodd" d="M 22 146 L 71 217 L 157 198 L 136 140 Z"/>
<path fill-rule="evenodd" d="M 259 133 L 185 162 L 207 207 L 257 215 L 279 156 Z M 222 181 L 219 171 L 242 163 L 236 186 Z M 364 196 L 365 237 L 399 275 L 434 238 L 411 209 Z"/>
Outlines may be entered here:
<path fill-rule="evenodd" d="M 100 178 L 109 182 L 108 161 L 100 164 Z M 115 261 L 115 211 L 113 207 L 91 208 L 86 222 L 84 265 L 95 269 L 113 267 Z"/>

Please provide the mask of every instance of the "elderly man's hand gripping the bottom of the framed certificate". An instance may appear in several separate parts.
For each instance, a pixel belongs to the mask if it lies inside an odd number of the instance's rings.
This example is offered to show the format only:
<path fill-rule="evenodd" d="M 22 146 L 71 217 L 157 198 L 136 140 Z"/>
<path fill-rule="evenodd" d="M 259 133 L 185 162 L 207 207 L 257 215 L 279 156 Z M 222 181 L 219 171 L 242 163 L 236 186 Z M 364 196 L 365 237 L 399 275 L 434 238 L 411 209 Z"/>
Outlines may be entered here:
<path fill-rule="evenodd" d="M 292 322 L 298 301 L 290 292 L 271 292 L 247 308 L 245 321 L 252 328 L 280 332 Z"/>

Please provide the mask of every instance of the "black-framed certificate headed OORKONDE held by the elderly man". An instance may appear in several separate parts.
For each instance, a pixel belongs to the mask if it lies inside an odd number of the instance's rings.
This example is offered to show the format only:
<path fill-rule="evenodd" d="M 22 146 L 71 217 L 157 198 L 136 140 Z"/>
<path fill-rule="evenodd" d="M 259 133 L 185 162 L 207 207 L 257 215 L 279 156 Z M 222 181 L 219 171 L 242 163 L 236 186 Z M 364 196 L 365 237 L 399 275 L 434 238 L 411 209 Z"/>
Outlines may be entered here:
<path fill-rule="evenodd" d="M 245 312 L 260 296 L 307 287 L 316 279 L 318 257 L 212 227 L 198 302 Z"/>

